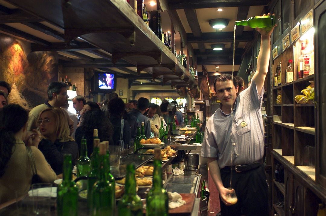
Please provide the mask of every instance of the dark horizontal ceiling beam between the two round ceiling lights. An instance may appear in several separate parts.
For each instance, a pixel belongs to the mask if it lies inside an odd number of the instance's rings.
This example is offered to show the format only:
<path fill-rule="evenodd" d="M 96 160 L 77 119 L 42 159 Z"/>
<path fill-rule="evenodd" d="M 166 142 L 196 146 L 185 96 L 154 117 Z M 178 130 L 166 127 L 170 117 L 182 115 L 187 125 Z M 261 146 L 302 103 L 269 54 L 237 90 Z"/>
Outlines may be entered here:
<path fill-rule="evenodd" d="M 235 37 L 235 41 L 248 42 L 251 41 L 253 38 L 254 38 L 253 31 L 244 31 L 241 36 Z M 195 37 L 192 33 L 188 33 L 187 42 L 191 44 L 233 42 L 233 32 L 202 33 L 201 37 Z"/>

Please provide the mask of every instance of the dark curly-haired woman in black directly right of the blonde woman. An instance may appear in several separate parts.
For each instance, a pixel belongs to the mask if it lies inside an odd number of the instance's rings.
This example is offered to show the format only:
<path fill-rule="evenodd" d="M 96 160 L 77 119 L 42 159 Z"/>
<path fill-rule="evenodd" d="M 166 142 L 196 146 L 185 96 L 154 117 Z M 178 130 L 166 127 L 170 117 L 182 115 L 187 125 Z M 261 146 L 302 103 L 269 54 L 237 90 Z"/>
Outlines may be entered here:
<path fill-rule="evenodd" d="M 100 109 L 92 109 L 87 111 L 83 116 L 83 124 L 76 130 L 76 142 L 80 149 L 82 139 L 87 140 L 87 155 L 93 153 L 93 131 L 98 130 L 98 138 L 101 141 L 109 141 L 113 143 L 112 133 L 113 127 L 107 116 Z"/>

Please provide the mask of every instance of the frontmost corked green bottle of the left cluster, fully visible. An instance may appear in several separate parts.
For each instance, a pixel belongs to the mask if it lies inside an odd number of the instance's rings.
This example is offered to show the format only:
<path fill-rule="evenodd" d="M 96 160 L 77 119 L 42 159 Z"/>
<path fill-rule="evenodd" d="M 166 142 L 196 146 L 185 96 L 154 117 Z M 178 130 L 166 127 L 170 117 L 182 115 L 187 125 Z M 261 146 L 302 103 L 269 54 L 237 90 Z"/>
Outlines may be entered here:
<path fill-rule="evenodd" d="M 93 186 L 92 216 L 114 215 L 115 183 L 108 180 L 107 172 L 110 168 L 106 155 L 105 143 L 100 143 L 99 179 Z"/>

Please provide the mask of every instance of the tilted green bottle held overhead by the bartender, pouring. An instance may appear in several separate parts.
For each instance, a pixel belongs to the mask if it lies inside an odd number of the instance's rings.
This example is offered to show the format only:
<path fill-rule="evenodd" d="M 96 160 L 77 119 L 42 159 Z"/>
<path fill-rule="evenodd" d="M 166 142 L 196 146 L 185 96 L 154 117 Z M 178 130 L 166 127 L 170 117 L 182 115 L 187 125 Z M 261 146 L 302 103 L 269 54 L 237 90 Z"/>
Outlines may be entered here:
<path fill-rule="evenodd" d="M 241 20 L 236 21 L 236 25 L 248 25 L 251 28 L 272 28 L 276 23 L 275 16 L 257 16 L 257 17 L 250 17 L 248 20 Z"/>

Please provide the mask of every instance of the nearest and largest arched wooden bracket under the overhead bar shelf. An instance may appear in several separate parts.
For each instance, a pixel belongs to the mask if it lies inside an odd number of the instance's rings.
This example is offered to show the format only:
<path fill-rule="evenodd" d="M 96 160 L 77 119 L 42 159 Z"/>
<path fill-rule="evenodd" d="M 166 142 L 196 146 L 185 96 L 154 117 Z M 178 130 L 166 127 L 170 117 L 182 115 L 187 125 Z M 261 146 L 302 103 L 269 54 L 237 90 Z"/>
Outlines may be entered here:
<path fill-rule="evenodd" d="M 112 32 L 124 36 L 130 45 L 135 45 L 136 32 L 134 27 L 111 27 L 111 28 L 68 28 L 65 29 L 65 43 L 70 44 L 72 40 L 84 34 Z"/>

